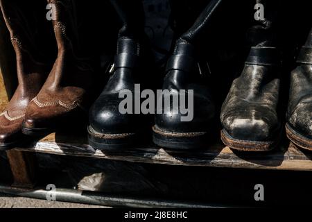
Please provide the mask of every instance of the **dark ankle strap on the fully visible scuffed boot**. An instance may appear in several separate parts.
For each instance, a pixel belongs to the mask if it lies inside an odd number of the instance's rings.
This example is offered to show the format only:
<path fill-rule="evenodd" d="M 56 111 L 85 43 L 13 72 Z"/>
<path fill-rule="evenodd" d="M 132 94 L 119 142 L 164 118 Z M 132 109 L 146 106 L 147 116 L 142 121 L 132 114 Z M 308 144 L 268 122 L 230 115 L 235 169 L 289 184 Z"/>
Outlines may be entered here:
<path fill-rule="evenodd" d="M 245 61 L 246 65 L 281 65 L 279 51 L 275 47 L 252 47 Z"/>

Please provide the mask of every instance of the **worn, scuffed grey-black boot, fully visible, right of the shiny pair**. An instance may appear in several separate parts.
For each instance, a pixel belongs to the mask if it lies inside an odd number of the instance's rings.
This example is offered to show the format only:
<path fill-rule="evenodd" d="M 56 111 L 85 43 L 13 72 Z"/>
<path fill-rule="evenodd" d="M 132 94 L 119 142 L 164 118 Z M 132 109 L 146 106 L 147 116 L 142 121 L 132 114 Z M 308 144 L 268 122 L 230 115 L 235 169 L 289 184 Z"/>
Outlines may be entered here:
<path fill-rule="evenodd" d="M 266 15 L 273 12 L 265 5 Z M 272 20 L 264 19 L 248 31 L 250 53 L 223 103 L 221 139 L 239 151 L 270 151 L 277 145 L 281 123 L 279 106 L 280 59 Z"/>

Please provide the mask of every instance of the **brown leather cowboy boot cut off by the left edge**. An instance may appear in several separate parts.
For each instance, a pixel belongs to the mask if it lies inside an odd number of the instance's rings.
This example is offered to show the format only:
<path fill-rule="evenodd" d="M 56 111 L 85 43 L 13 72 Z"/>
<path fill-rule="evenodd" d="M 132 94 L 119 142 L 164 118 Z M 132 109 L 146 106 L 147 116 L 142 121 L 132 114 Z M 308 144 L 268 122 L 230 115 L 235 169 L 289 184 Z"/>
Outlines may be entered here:
<path fill-rule="evenodd" d="M 44 56 L 38 42 L 44 42 L 46 37 L 38 36 L 42 30 L 37 22 L 36 6 L 19 0 L 1 0 L 0 6 L 15 49 L 19 83 L 10 103 L 0 114 L 0 148 L 10 148 L 24 139 L 21 123 L 26 108 L 40 91 L 51 66 L 49 62 L 42 62 Z"/>

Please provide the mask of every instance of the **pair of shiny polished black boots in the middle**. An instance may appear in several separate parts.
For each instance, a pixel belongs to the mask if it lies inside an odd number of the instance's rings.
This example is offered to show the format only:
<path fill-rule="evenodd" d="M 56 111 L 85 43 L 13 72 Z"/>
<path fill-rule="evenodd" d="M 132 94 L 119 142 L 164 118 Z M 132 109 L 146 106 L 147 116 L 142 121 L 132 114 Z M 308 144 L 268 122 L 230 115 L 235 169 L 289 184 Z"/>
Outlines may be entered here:
<path fill-rule="evenodd" d="M 137 5 L 132 5 L 132 9 L 138 10 L 141 7 L 139 1 L 133 3 Z M 220 0 L 211 1 L 191 29 L 178 38 L 173 56 L 168 58 L 165 70 L 163 89 L 168 90 L 168 94 L 156 96 L 161 103 L 167 100 L 169 104 L 163 104 L 162 108 L 153 110 L 158 113 L 153 127 L 153 113 L 125 114 L 119 109 L 124 99 L 120 98 L 121 92 L 130 92 L 135 99 L 137 93 L 135 84 L 140 84 L 141 89 L 156 89 L 157 84 L 153 83 L 157 80 L 152 79 L 156 69 L 153 66 L 153 58 L 150 56 L 152 53 L 148 50 L 148 44 L 142 38 L 144 28 L 140 25 L 144 19 L 138 15 L 143 13 L 126 10 L 124 1 L 115 2 L 114 6 L 119 12 L 123 27 L 119 33 L 117 55 L 111 70 L 112 76 L 89 112 L 89 144 L 97 149 L 128 147 L 148 139 L 148 132 L 152 133 L 152 127 L 154 141 L 160 146 L 191 148 L 205 144 L 215 111 L 209 90 L 205 86 L 205 66 L 199 64 L 198 52 L 193 46 L 193 41 L 205 29 L 220 3 Z M 182 114 L 180 109 L 179 112 L 172 112 L 173 101 L 170 99 L 172 96 L 177 96 L 176 98 L 180 100 L 180 90 L 185 91 L 185 101 L 189 101 L 188 92 L 192 94 L 193 106 L 196 108 L 190 108 L 191 121 L 182 121 L 185 113 Z M 137 105 L 138 102 L 141 105 L 141 101 L 134 101 L 133 105 Z M 168 106 L 171 106 L 171 109 L 167 109 Z"/>

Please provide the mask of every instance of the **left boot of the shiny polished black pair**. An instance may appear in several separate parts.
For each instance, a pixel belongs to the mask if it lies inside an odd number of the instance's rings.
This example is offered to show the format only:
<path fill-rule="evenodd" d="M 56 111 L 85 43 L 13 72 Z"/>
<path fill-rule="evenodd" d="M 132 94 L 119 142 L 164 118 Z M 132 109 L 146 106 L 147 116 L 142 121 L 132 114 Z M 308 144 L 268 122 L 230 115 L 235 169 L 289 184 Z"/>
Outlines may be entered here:
<path fill-rule="evenodd" d="M 145 53 L 143 6 L 140 0 L 119 0 L 112 3 L 123 27 L 119 32 L 112 76 L 89 111 L 89 144 L 100 150 L 132 146 L 138 139 L 144 140 L 144 136 L 140 137 L 141 133 L 148 132 L 146 128 L 151 127 L 146 120 L 148 115 L 121 113 L 119 110 L 119 105 L 124 100 L 119 98 L 120 92 L 128 90 L 135 100 L 135 84 L 141 84 L 143 89 L 145 83 L 152 82 L 153 79 L 152 62 Z"/>

